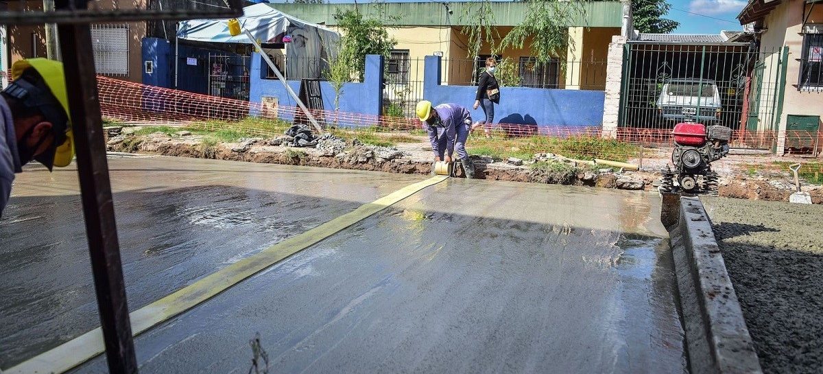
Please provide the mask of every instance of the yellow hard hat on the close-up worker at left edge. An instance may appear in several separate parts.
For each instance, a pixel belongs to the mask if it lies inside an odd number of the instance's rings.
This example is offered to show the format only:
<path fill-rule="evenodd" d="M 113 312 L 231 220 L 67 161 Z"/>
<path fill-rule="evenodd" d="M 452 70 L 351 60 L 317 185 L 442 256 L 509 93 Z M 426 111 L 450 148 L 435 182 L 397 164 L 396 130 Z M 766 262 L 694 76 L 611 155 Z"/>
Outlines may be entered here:
<path fill-rule="evenodd" d="M 47 58 L 28 58 L 17 61 L 12 65 L 12 81 L 20 78 L 28 68 L 34 68 L 40 74 L 46 86 L 49 87 L 53 98 L 57 99 L 60 109 L 63 110 L 62 114 L 65 115 L 64 119 L 62 116 L 59 116 L 60 119 L 56 119 L 58 116 L 48 118 L 49 116 L 44 113 L 50 122 L 58 122 L 52 124 L 52 129 L 55 131 L 55 141 L 48 152 L 35 157 L 35 160 L 49 167 L 49 170 L 51 166 L 67 166 L 74 157 L 74 137 L 68 111 L 68 95 L 66 92 L 66 78 L 63 76 L 63 63 Z"/>

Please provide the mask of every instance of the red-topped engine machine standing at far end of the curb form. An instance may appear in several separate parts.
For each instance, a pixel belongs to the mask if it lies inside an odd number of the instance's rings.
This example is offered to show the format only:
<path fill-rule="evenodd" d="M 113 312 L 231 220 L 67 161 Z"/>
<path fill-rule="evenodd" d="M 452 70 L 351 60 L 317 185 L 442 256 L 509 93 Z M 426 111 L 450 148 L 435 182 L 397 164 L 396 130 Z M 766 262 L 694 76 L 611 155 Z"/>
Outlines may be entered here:
<path fill-rule="evenodd" d="M 671 167 L 663 169 L 661 192 L 717 194 L 718 174 L 712 171 L 712 161 L 728 155 L 732 129 L 704 124 L 681 123 L 674 127 L 674 152 Z M 677 185 L 675 184 L 677 182 Z"/>

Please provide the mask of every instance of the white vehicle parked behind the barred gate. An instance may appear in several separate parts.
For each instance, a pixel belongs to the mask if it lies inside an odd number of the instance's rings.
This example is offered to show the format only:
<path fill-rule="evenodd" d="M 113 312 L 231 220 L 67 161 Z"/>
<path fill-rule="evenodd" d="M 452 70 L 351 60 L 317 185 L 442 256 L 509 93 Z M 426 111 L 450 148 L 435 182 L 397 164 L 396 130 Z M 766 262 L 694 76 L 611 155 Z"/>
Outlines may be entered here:
<path fill-rule="evenodd" d="M 663 119 L 676 122 L 713 122 L 722 111 L 717 83 L 710 79 L 701 82 L 700 78 L 668 80 L 656 106 Z"/>

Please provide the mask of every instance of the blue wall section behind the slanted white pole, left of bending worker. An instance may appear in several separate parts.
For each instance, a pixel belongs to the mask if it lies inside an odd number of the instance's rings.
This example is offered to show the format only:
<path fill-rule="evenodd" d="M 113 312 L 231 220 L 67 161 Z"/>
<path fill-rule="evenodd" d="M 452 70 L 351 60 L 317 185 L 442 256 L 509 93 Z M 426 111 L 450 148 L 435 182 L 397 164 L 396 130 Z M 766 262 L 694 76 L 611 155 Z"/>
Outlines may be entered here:
<path fill-rule="evenodd" d="M 286 87 L 277 79 L 267 79 L 265 61 L 260 54 L 252 54 L 250 101 L 261 102 L 262 97 L 277 97 L 281 106 L 297 106 L 286 92 Z M 340 94 L 340 111 L 363 115 L 380 115 L 383 100 L 383 56 L 368 55 L 365 58 L 365 78 L 362 83 L 345 83 Z M 288 81 L 295 94 L 300 93 L 300 81 Z M 323 107 L 334 110 L 334 89 L 329 82 L 320 82 L 323 92 Z M 252 114 L 254 115 L 254 113 Z M 291 118 L 283 118 L 291 120 Z M 372 121 L 374 122 L 374 121 Z"/>

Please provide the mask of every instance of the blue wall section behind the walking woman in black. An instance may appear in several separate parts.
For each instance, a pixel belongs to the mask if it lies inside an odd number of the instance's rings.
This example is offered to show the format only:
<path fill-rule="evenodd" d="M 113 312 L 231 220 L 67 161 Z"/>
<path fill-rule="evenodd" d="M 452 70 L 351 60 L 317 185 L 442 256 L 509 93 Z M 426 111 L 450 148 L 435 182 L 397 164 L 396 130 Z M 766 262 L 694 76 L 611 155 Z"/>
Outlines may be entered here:
<path fill-rule="evenodd" d="M 472 111 L 472 119 L 486 118 L 483 109 L 472 110 L 477 86 L 441 86 L 440 57 L 426 56 L 423 98 L 435 105 L 455 103 Z M 600 127 L 603 91 L 502 87 L 495 105 L 495 124 L 531 124 L 560 127 Z"/>

